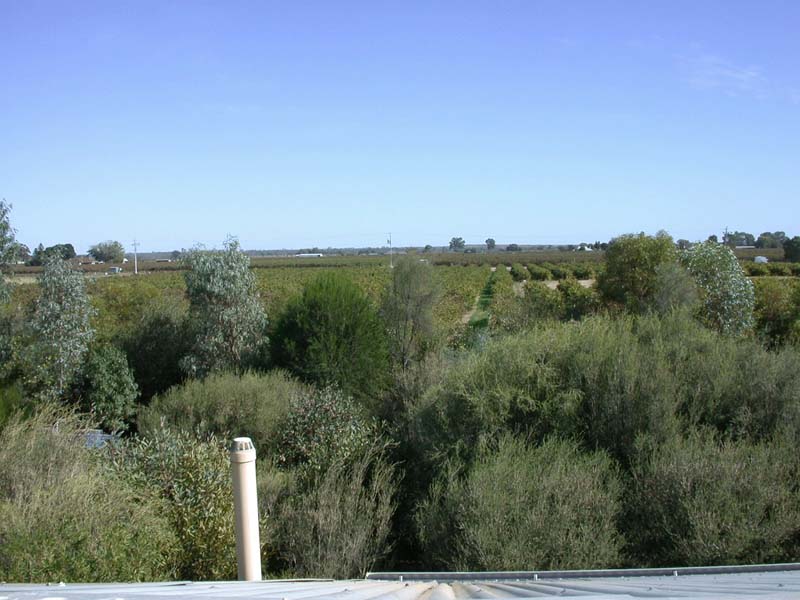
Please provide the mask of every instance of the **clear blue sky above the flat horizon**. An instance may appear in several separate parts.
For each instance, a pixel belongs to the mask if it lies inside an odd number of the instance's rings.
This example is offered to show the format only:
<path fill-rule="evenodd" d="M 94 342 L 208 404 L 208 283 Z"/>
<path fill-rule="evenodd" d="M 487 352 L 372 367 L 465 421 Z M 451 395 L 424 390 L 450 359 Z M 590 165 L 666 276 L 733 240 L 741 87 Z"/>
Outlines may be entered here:
<path fill-rule="evenodd" d="M 800 2 L 0 0 L 33 248 L 800 235 Z"/>

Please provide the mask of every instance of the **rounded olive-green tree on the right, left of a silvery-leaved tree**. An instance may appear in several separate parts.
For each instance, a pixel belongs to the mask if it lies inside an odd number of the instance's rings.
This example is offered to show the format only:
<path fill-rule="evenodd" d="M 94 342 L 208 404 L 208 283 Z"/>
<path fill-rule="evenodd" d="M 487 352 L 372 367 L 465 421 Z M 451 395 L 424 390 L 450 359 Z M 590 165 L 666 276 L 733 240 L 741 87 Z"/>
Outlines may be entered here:
<path fill-rule="evenodd" d="M 674 262 L 675 245 L 665 232 L 651 237 L 626 234 L 611 240 L 606 251 L 606 269 L 597 287 L 606 301 L 642 312 L 652 302 L 659 265 Z"/>

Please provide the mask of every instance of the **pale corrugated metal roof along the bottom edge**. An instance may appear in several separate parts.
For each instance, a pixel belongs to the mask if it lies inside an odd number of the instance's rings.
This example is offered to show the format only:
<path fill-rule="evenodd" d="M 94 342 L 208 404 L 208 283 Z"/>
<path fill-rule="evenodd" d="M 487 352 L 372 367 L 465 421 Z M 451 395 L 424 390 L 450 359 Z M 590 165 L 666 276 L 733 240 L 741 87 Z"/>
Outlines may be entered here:
<path fill-rule="evenodd" d="M 789 567 L 787 565 L 787 567 Z M 793 567 L 793 566 L 792 566 Z M 789 567 L 789 568 L 792 568 Z M 595 574 L 597 573 L 597 574 Z M 0 585 L 0 600 L 182 600 L 187 598 L 262 600 L 497 600 L 580 596 L 612 600 L 630 598 L 759 598 L 797 600 L 800 571 L 701 572 L 652 575 L 647 571 L 583 577 L 536 573 L 515 579 L 513 573 L 375 573 L 354 581 L 273 580 L 262 582 L 166 582 L 139 584 Z M 614 571 L 613 573 L 621 573 Z M 678 573 L 678 574 L 675 574 Z M 494 580 L 488 576 L 494 575 Z M 551 576 L 552 575 L 552 576 Z M 434 577 L 433 580 L 409 578 Z M 421 577 L 424 576 L 424 577 Z M 401 581 L 400 578 L 403 578 Z M 449 578 L 449 579 L 448 579 Z M 444 580 L 448 579 L 447 582 Z"/>

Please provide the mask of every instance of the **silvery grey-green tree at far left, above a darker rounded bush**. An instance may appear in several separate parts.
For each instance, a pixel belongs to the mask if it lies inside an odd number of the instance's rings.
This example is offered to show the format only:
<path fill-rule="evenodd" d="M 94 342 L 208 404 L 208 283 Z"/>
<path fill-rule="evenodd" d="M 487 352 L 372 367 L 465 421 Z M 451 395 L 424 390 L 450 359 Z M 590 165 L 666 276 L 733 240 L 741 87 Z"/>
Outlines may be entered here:
<path fill-rule="evenodd" d="M 83 275 L 60 259 L 50 259 L 39 277 L 39 297 L 20 350 L 22 381 L 38 401 L 59 400 L 68 392 L 94 336 L 93 310 Z"/>

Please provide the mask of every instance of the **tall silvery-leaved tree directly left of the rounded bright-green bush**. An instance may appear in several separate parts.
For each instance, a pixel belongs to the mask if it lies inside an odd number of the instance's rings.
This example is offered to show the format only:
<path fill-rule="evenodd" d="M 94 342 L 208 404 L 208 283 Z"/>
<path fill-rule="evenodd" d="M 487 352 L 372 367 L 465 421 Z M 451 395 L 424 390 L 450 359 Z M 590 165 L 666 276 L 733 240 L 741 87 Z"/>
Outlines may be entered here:
<path fill-rule="evenodd" d="M 192 351 L 183 365 L 194 376 L 243 369 L 264 350 L 267 316 L 250 259 L 230 239 L 222 251 L 193 250 L 183 257 Z"/>

